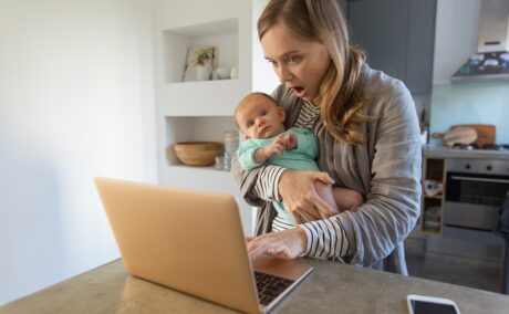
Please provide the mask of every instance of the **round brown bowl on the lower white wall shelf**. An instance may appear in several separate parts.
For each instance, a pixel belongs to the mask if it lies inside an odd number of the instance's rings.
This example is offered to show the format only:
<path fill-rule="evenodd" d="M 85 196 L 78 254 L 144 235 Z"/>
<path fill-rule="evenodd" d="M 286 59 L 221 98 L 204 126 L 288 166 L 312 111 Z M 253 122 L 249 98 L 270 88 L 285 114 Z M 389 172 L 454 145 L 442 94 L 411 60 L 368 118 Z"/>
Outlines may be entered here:
<path fill-rule="evenodd" d="M 174 144 L 178 160 L 188 166 L 211 166 L 216 156 L 224 153 L 222 143 L 217 142 L 181 142 Z"/>

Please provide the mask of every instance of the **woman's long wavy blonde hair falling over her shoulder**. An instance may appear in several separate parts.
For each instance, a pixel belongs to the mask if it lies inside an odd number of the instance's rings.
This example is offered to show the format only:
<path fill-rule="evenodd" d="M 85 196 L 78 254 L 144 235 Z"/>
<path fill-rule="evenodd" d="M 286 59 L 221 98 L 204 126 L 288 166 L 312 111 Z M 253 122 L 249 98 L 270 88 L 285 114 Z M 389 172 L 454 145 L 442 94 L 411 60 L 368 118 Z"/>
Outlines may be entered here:
<path fill-rule="evenodd" d="M 361 124 L 370 119 L 362 113 L 360 77 L 365 55 L 350 45 L 336 0 L 271 0 L 258 20 L 259 39 L 277 24 L 304 41 L 325 45 L 332 62 L 319 92 L 323 125 L 339 142 L 363 144 L 366 138 Z"/>

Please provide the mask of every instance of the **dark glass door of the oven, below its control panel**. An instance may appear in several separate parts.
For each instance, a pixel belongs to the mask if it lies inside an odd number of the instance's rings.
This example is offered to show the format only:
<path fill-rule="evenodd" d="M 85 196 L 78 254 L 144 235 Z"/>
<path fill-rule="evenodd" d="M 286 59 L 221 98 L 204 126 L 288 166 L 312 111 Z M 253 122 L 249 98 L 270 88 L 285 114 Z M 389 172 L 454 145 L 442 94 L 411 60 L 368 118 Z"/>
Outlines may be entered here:
<path fill-rule="evenodd" d="M 509 190 L 509 176 L 447 172 L 446 226 L 495 230 Z"/>

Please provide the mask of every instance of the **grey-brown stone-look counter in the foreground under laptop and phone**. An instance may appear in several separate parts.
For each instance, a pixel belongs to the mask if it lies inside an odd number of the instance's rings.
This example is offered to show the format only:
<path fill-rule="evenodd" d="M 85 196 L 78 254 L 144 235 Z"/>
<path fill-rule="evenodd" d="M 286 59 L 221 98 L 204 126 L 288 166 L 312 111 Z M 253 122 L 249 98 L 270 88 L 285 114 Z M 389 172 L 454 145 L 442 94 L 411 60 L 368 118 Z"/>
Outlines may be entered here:
<path fill-rule="evenodd" d="M 274 313 L 408 313 L 409 293 L 454 300 L 461 313 L 503 313 L 509 296 L 320 260 Z M 128 275 L 121 260 L 0 306 L 0 313 L 233 313 Z"/>

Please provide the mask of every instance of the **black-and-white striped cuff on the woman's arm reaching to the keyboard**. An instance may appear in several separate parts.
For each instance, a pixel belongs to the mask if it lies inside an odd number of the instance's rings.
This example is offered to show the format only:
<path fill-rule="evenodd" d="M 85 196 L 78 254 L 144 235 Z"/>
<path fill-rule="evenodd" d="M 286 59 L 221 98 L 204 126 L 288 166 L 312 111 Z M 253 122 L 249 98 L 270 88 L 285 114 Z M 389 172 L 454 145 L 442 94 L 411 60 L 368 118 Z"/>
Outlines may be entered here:
<path fill-rule="evenodd" d="M 349 238 L 339 217 L 299 224 L 308 236 L 303 257 L 333 259 L 353 253 Z"/>

